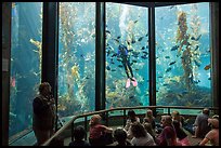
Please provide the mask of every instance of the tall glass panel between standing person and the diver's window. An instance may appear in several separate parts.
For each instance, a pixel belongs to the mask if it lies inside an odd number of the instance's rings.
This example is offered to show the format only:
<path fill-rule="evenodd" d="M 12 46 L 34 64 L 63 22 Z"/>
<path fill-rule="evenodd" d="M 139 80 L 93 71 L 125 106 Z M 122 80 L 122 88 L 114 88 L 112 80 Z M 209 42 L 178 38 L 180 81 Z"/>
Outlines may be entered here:
<path fill-rule="evenodd" d="M 95 107 L 95 3 L 60 2 L 58 115 Z"/>

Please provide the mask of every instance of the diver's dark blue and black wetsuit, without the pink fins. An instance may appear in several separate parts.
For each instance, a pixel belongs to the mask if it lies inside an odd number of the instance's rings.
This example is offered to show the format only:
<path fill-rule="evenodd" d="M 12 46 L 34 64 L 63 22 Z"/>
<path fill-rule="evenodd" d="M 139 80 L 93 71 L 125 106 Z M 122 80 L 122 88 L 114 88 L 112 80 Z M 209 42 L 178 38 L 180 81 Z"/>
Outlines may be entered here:
<path fill-rule="evenodd" d="M 125 67 L 125 71 L 126 71 L 128 78 L 131 79 L 131 80 L 133 80 L 133 79 L 132 79 L 132 78 L 133 78 L 133 71 L 132 71 L 132 68 L 131 68 L 131 66 L 130 66 L 130 57 L 129 57 L 129 55 L 128 55 L 128 49 L 127 49 L 127 46 L 123 45 L 123 44 L 120 44 L 120 45 L 118 46 L 118 53 L 117 53 L 117 54 L 118 54 L 119 57 L 121 57 L 121 63 L 122 63 L 122 65 L 123 65 L 123 67 Z M 128 73 L 128 69 L 130 70 L 131 77 L 130 77 L 129 73 Z"/>

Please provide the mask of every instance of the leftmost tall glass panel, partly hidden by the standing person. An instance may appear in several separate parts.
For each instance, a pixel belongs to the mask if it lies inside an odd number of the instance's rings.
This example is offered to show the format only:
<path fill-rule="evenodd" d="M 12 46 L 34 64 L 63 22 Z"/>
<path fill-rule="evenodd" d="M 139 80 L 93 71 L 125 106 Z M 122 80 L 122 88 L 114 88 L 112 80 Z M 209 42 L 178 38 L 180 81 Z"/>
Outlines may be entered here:
<path fill-rule="evenodd" d="M 12 2 L 10 137 L 31 129 L 41 81 L 42 2 Z"/>

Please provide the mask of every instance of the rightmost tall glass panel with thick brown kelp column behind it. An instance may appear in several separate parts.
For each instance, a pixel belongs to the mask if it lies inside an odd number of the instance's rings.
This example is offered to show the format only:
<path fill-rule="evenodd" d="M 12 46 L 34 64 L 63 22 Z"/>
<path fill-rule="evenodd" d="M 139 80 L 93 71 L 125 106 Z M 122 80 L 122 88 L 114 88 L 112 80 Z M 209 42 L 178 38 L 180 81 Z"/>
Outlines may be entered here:
<path fill-rule="evenodd" d="M 209 3 L 156 8 L 157 105 L 211 106 Z"/>

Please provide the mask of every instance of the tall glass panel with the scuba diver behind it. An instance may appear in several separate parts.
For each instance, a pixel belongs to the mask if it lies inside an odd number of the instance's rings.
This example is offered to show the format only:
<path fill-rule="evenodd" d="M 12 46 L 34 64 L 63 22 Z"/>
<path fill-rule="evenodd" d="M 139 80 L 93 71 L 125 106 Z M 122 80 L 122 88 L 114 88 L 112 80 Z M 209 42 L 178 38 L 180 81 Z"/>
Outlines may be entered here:
<path fill-rule="evenodd" d="M 106 108 L 150 104 L 147 21 L 146 8 L 106 3 Z"/>

